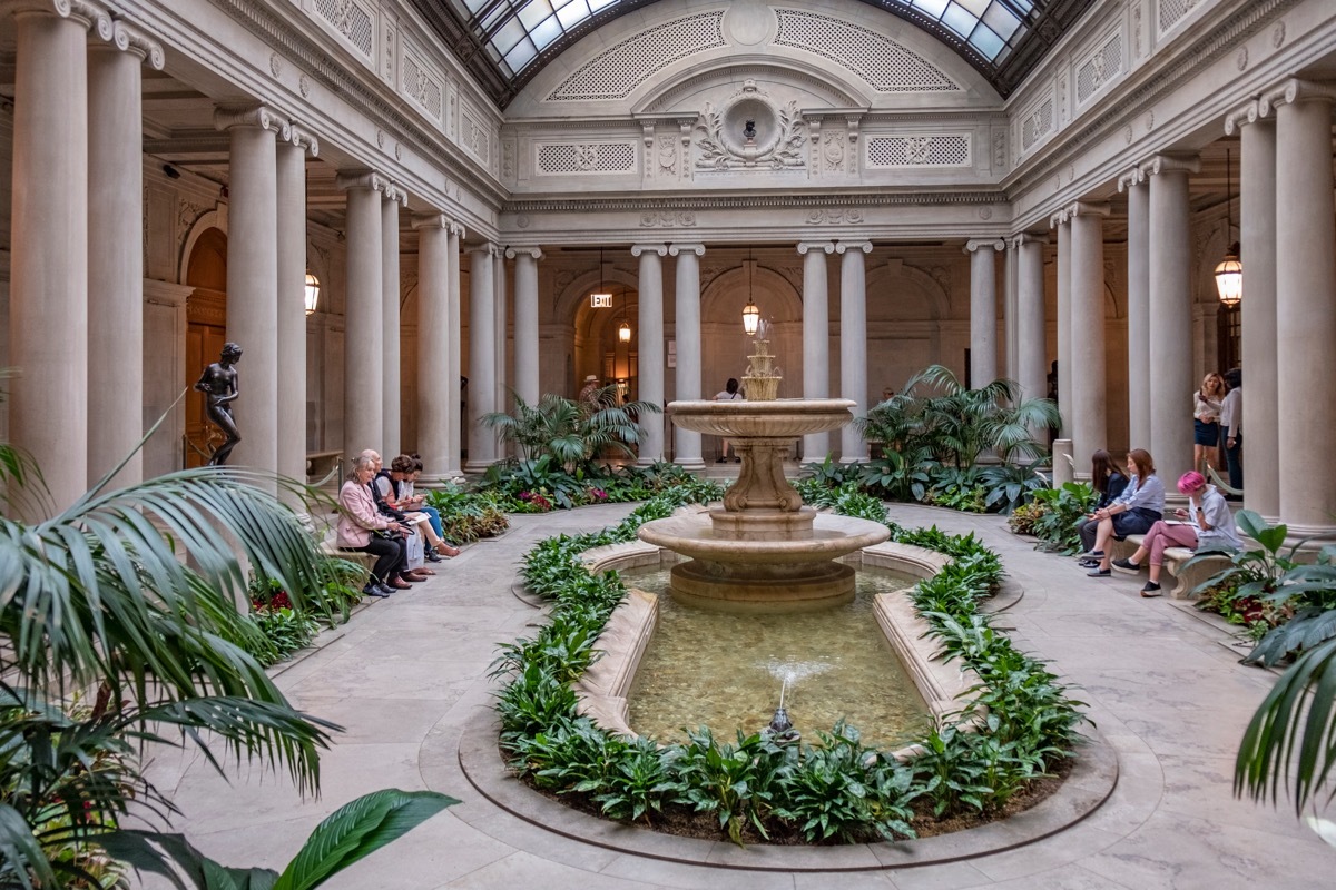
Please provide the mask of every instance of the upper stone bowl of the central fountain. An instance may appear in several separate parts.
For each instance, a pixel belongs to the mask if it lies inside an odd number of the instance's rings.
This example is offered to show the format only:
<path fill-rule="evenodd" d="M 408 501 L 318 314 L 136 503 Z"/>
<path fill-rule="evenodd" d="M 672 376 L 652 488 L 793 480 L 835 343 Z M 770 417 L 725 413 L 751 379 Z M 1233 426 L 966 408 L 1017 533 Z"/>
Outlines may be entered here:
<path fill-rule="evenodd" d="M 713 436 L 787 438 L 839 430 L 854 419 L 852 399 L 672 402 L 673 424 Z"/>

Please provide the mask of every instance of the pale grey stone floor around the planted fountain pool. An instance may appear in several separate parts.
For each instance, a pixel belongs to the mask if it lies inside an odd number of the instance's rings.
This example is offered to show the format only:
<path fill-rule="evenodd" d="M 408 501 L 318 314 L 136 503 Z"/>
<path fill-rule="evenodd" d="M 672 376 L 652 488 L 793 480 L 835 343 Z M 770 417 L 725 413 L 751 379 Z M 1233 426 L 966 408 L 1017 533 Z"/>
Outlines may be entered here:
<path fill-rule="evenodd" d="M 1237 801 L 1233 754 L 1273 677 L 1240 666 L 1228 635 L 1141 579 L 1090 579 L 1038 554 L 997 516 L 896 506 L 903 524 L 977 531 L 1023 599 L 1005 614 L 1018 642 L 1079 687 L 1120 765 L 1113 795 L 1089 818 L 1029 846 L 982 858 L 855 873 L 762 873 L 681 865 L 566 839 L 497 809 L 456 759 L 462 727 L 486 709 L 497 642 L 540 620 L 512 591 L 533 542 L 611 524 L 627 506 L 516 516 L 496 542 L 468 547 L 437 578 L 374 600 L 277 682 L 309 713 L 346 727 L 322 758 L 322 794 L 301 799 L 259 769 L 222 779 L 200 758 L 159 753 L 178 830 L 228 865 L 282 867 L 325 815 L 382 787 L 436 789 L 464 802 L 331 879 L 330 889 L 544 890 L 766 887 L 804 890 L 1308 890 L 1332 886 L 1336 850 L 1288 809 Z M 158 887 L 158 883 L 144 883 Z"/>

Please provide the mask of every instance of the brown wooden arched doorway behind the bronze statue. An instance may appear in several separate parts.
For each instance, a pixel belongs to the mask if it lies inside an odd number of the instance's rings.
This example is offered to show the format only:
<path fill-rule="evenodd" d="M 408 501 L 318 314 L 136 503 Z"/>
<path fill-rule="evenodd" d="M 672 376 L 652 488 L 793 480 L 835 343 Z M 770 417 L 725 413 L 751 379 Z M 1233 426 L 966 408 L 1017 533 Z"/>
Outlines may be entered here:
<path fill-rule="evenodd" d="M 227 235 L 208 228 L 195 240 L 186 266 L 186 284 L 194 287 L 186 298 L 186 386 L 192 386 L 200 371 L 227 340 Z M 204 418 L 203 396 L 186 396 L 186 440 L 183 462 L 200 467 L 208 460 L 210 440 L 216 430 Z"/>

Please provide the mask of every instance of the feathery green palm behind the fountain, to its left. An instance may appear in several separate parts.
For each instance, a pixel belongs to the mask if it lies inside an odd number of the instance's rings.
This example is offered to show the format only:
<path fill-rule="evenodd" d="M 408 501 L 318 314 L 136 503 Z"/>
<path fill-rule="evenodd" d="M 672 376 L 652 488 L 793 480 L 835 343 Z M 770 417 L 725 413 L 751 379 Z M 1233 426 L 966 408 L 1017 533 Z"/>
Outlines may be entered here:
<path fill-rule="evenodd" d="M 516 394 L 513 414 L 486 414 L 482 423 L 498 430 L 502 440 L 514 442 L 522 459 L 552 455 L 566 472 L 573 472 L 604 448 L 633 456 L 631 446 L 640 442 L 643 432 L 636 419 L 660 411 L 652 402 L 621 404 L 617 386 L 612 384 L 595 391 L 591 403 L 548 392 L 530 406 Z"/>

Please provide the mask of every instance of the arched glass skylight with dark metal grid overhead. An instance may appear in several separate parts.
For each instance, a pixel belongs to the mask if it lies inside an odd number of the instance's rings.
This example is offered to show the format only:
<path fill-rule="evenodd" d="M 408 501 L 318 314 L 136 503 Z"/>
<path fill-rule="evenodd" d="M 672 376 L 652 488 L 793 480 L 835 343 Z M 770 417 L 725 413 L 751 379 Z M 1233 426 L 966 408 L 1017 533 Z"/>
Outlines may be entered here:
<path fill-rule="evenodd" d="M 500 108 L 574 41 L 655 1 L 413 0 Z M 859 1 L 931 33 L 1006 97 L 1094 0 Z"/>

